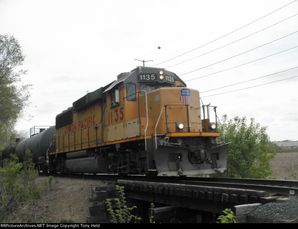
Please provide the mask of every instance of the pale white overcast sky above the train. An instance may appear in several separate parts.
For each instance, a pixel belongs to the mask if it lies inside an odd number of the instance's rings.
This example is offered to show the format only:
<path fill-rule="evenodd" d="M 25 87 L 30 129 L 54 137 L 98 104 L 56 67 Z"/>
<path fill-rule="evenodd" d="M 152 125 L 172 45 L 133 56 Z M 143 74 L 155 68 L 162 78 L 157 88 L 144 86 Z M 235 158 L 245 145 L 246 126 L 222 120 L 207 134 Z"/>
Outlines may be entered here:
<path fill-rule="evenodd" d="M 19 40 L 33 84 L 34 118 L 16 128 L 55 125 L 144 59 L 199 90 L 218 116 L 254 117 L 271 141 L 298 140 L 297 14 L 297 0 L 0 0 L 0 34 Z"/>

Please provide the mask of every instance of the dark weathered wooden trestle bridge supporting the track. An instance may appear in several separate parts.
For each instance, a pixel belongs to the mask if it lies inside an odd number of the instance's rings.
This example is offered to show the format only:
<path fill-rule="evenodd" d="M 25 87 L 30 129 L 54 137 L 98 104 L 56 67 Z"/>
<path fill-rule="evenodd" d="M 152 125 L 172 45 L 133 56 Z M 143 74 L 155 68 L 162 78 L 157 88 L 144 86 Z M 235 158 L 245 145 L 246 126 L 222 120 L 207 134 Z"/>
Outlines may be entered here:
<path fill-rule="evenodd" d="M 268 192 L 261 190 L 243 189 L 241 184 L 239 188 L 229 188 L 224 184 L 223 187 L 215 187 L 192 183 L 124 179 L 118 180 L 117 184 L 124 187 L 127 204 L 137 206 L 136 215 L 142 219 L 146 220 L 150 203 L 154 203 L 155 207 L 149 211 L 152 210 L 156 222 L 210 223 L 215 222 L 226 208 L 231 208 L 236 221 L 245 223 L 248 222 L 246 214 L 250 211 L 262 204 L 286 197 L 286 195 L 269 195 Z M 117 194 L 114 186 L 96 187 L 94 189 L 96 197 L 90 198 L 93 206 L 90 207 L 88 222 L 110 222 L 111 217 L 106 211 L 105 200 L 117 198 Z"/>

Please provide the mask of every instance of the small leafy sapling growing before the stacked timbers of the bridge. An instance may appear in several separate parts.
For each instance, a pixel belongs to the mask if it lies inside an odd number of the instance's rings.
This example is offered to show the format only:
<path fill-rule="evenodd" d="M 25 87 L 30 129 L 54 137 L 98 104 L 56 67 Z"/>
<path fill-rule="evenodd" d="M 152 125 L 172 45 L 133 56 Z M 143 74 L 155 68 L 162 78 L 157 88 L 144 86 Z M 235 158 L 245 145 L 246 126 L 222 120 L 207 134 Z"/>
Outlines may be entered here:
<path fill-rule="evenodd" d="M 106 204 L 108 206 L 107 211 L 109 211 L 109 213 L 112 216 L 111 222 L 112 223 L 129 223 L 132 220 L 134 220 L 134 222 L 139 222 L 139 220 L 141 220 L 140 217 L 136 217 L 134 215 L 131 214 L 131 211 L 136 208 L 136 206 L 133 206 L 131 208 L 128 208 L 126 206 L 126 201 L 125 201 L 125 193 L 124 193 L 124 187 L 116 185 L 116 190 L 118 190 L 119 195 L 120 195 L 120 199 L 114 199 L 115 200 L 115 204 L 116 204 L 116 210 L 113 209 L 112 203 L 109 199 L 106 199 Z"/>

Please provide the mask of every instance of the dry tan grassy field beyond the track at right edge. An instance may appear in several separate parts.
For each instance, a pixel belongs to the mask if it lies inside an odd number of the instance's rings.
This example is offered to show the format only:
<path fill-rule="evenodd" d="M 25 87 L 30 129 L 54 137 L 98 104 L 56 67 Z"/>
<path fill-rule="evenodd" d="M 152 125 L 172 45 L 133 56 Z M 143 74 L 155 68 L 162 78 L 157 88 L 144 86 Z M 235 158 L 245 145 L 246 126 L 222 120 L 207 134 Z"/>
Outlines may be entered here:
<path fill-rule="evenodd" d="M 272 170 L 275 173 L 273 178 L 279 180 L 298 180 L 298 170 L 295 165 L 298 165 L 298 151 L 292 153 L 277 153 L 275 159 L 271 162 Z M 293 173 L 297 175 L 291 176 Z"/>

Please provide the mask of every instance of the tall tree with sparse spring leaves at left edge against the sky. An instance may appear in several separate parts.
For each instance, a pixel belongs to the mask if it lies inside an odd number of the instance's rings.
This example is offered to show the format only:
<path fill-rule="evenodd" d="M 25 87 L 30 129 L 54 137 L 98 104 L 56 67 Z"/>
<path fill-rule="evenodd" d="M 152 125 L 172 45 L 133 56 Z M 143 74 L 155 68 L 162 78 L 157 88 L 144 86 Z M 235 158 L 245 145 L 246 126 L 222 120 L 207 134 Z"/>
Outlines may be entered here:
<path fill-rule="evenodd" d="M 0 34 L 0 150 L 9 142 L 13 127 L 19 118 L 24 117 L 24 109 L 30 105 L 28 99 L 32 85 L 21 83 L 21 76 L 27 70 L 18 68 L 24 58 L 18 40 Z"/>

